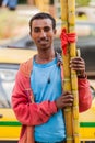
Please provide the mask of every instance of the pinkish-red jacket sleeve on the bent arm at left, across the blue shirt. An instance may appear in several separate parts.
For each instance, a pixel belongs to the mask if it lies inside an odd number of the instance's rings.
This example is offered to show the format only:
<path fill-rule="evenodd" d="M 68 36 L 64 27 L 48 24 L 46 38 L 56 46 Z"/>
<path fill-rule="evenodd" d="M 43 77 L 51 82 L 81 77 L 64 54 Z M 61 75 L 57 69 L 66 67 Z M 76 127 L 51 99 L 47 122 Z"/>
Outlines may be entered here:
<path fill-rule="evenodd" d="M 22 124 L 41 124 L 57 112 L 57 107 L 55 101 L 44 101 L 41 103 L 29 102 L 27 89 L 31 89 L 31 87 L 28 82 L 29 78 L 19 72 L 12 92 L 12 108 Z"/>

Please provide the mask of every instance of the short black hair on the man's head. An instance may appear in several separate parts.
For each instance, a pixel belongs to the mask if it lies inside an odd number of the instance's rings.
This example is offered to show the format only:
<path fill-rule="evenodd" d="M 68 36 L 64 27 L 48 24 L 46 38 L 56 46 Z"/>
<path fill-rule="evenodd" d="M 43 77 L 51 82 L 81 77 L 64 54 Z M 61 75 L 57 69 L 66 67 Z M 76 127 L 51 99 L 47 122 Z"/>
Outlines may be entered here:
<path fill-rule="evenodd" d="M 54 30 L 56 29 L 56 20 L 55 20 L 49 13 L 39 12 L 39 13 L 35 14 L 35 15 L 29 20 L 29 29 L 31 29 L 31 32 L 32 32 L 32 22 L 33 22 L 34 20 L 37 20 L 37 19 L 50 19 L 51 22 L 52 22 L 52 29 L 54 29 Z"/>

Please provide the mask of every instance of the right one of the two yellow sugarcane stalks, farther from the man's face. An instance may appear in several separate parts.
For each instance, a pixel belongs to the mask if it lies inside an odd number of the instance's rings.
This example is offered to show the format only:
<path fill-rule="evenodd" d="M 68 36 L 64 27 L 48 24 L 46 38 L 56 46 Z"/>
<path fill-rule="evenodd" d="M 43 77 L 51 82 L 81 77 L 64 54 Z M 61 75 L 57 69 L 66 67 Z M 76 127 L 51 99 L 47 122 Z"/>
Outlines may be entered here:
<path fill-rule="evenodd" d="M 69 33 L 75 32 L 75 0 L 68 0 L 68 21 L 69 21 Z M 70 57 L 76 56 L 75 43 L 70 43 Z M 71 69 L 71 86 L 72 94 L 74 96 L 73 101 L 73 138 L 74 143 L 80 142 L 79 138 L 79 94 L 78 94 L 78 76 L 75 70 Z"/>

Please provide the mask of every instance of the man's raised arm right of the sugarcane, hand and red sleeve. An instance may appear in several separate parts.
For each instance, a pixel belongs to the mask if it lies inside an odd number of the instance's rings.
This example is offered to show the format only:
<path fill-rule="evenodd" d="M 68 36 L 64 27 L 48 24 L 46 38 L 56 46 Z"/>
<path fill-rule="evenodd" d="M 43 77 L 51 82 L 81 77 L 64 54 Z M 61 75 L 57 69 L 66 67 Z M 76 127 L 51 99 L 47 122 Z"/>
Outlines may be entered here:
<path fill-rule="evenodd" d="M 92 105 L 92 94 L 85 74 L 85 62 L 81 57 L 74 57 L 70 61 L 70 67 L 78 73 L 79 111 L 82 112 Z"/>

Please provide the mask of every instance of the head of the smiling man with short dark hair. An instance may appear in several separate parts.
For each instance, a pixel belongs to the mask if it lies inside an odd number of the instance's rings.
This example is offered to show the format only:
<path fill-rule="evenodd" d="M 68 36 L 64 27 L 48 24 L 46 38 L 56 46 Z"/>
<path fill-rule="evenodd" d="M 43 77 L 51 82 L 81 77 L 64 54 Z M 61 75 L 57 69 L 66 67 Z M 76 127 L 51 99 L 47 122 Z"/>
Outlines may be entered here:
<path fill-rule="evenodd" d="M 38 50 L 52 47 L 56 34 L 56 21 L 48 13 L 37 13 L 29 21 L 31 37 Z"/>

